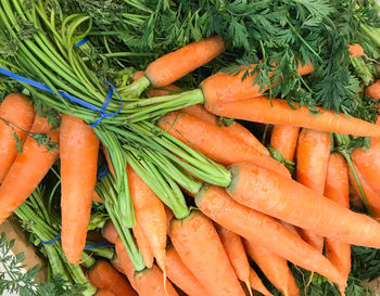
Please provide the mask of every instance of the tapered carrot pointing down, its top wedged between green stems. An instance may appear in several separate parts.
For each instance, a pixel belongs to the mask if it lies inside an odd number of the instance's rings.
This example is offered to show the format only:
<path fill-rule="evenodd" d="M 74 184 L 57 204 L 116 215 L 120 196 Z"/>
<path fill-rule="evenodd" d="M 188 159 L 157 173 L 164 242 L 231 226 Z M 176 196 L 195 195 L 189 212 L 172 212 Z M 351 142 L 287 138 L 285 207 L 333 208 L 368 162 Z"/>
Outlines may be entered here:
<path fill-rule="evenodd" d="M 136 222 L 144 233 L 159 267 L 165 270 L 167 229 L 164 204 L 130 166 L 127 166 L 127 176 Z"/>

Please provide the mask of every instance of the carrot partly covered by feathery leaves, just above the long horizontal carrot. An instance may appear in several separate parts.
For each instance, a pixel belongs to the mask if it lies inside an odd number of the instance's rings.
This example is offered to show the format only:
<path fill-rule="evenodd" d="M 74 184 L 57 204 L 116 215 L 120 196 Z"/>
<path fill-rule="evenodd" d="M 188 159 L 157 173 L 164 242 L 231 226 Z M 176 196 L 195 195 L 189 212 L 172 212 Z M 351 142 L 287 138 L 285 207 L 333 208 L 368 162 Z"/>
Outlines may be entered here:
<path fill-rule="evenodd" d="M 312 63 L 305 66 L 301 66 L 300 64 L 297 70 L 300 75 L 306 75 L 312 73 L 314 68 Z M 241 80 L 243 75 L 244 72 L 238 75 L 217 73 L 203 80 L 200 88 L 202 89 L 206 105 L 237 102 L 249 98 L 258 96 L 268 89 L 268 86 L 266 86 L 262 92 L 259 91 L 261 87 L 257 83 L 254 83 L 256 74 L 253 76 L 248 76 L 246 79 Z M 270 77 L 273 75 L 274 72 L 269 73 Z"/>

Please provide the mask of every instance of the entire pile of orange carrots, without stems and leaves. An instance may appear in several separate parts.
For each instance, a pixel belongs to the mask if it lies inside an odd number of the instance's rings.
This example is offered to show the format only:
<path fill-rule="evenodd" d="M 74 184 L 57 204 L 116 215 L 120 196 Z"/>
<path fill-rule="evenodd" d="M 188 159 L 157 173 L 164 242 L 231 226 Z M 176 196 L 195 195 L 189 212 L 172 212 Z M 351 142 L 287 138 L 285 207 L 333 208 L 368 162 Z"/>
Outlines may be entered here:
<path fill-rule="evenodd" d="M 136 82 L 148 78 L 148 95 L 168 100 L 170 91 L 180 91 L 173 82 L 223 51 L 218 37 L 189 44 L 153 62 L 136 75 Z M 300 75 L 311 72 L 312 65 L 300 65 Z M 282 99 L 265 96 L 252 86 L 253 79 L 213 75 L 200 86 L 203 104 L 172 111 L 155 123 L 163 132 L 228 167 L 230 183 L 221 188 L 203 182 L 195 195 L 188 193 L 193 195 L 193 209 L 179 220 L 126 165 L 136 214 L 132 233 L 147 268 L 135 269 L 110 220 L 102 235 L 115 245 L 115 257 L 88 271 L 98 296 L 164 296 L 179 291 L 190 296 L 243 296 L 253 291 L 271 295 L 252 262 L 282 295 L 296 296 L 301 292 L 288 261 L 326 276 L 344 295 L 351 245 L 380 248 L 380 125 L 322 108 L 315 116 L 306 106 L 292 108 Z M 368 93 L 379 99 L 373 86 Z M 273 125 L 270 147 L 280 153 L 281 162 L 242 125 L 226 126 L 217 116 Z M 94 191 L 100 140 L 72 115 L 63 114 L 54 130 L 22 94 L 3 100 L 0 117 L 0 221 L 60 158 L 62 247 L 67 260 L 78 263 L 91 203 L 103 200 Z M 41 133 L 59 149 L 37 143 L 35 136 Z M 371 137 L 370 147 L 354 150 L 350 166 L 333 150 L 332 133 Z M 293 175 L 286 162 L 294 163 Z M 350 209 L 350 184 L 368 203 L 372 217 Z"/>

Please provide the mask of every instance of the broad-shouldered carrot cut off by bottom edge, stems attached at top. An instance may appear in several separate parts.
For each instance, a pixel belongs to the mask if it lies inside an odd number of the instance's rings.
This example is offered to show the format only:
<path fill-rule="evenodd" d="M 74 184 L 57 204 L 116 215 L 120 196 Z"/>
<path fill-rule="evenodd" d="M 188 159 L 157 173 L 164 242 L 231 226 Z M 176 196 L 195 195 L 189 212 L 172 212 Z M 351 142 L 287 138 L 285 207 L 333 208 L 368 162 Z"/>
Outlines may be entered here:
<path fill-rule="evenodd" d="M 169 236 L 179 257 L 210 296 L 243 296 L 212 221 L 200 211 L 173 220 Z"/>

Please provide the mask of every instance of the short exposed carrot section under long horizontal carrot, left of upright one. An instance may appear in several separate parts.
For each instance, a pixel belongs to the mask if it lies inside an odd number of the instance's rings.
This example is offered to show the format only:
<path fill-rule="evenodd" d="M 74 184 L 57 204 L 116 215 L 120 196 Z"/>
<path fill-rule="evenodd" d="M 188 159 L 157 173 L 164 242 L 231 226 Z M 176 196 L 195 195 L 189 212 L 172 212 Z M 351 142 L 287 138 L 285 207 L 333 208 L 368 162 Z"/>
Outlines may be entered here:
<path fill-rule="evenodd" d="M 270 146 L 279 151 L 284 159 L 294 162 L 300 128 L 291 126 L 275 126 L 271 131 Z"/>

